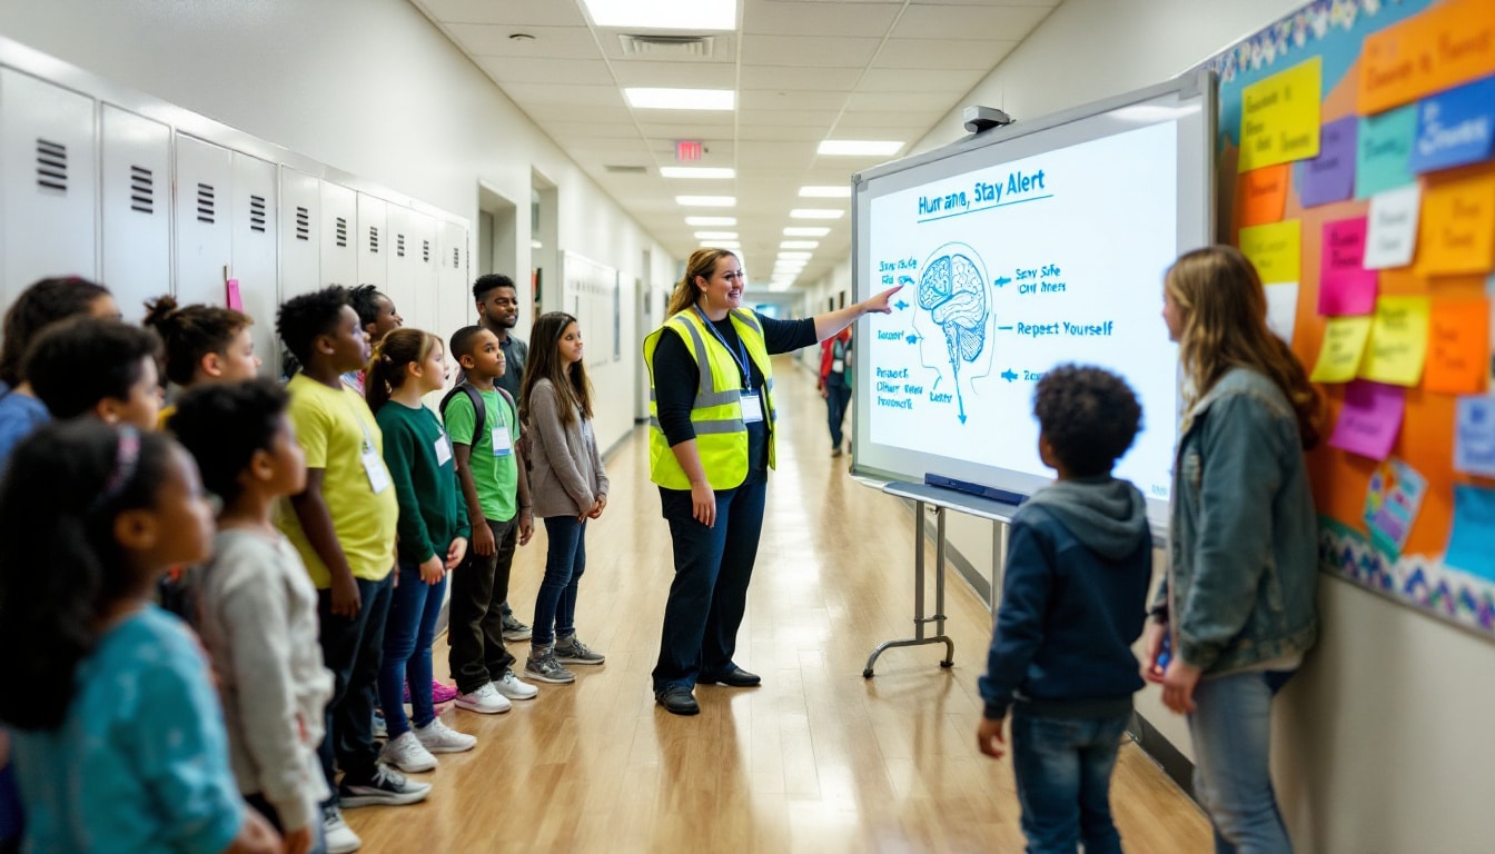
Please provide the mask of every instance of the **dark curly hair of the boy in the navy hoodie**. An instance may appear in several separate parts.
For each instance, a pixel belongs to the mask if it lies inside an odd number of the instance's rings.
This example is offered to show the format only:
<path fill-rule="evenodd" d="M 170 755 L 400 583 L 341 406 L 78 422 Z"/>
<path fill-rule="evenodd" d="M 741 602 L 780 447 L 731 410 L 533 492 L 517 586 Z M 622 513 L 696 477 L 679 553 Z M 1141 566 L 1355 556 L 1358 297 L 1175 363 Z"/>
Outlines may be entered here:
<path fill-rule="evenodd" d="M 1108 474 L 1142 429 L 1142 405 L 1121 377 L 1060 365 L 1038 381 L 1033 414 L 1058 462 L 1073 477 Z"/>

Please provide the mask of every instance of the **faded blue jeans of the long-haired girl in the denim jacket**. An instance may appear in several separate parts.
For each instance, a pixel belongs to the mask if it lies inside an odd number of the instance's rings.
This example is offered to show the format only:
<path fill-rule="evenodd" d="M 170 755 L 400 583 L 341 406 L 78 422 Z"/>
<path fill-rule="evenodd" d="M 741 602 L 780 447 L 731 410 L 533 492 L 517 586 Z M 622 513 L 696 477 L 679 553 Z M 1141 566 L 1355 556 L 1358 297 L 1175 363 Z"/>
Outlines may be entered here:
<path fill-rule="evenodd" d="M 1272 697 L 1292 673 L 1200 679 L 1189 733 L 1195 794 L 1214 826 L 1217 854 L 1290 854 L 1272 791 Z"/>

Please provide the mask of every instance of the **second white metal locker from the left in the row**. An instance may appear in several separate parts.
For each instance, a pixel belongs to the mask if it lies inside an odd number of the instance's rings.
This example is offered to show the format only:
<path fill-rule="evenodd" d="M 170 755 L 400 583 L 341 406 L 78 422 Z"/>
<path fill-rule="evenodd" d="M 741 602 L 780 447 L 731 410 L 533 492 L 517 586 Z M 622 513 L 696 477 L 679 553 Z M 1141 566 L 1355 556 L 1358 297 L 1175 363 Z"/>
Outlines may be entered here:
<path fill-rule="evenodd" d="M 172 130 L 112 103 L 99 114 L 103 283 L 124 319 L 172 290 Z"/>

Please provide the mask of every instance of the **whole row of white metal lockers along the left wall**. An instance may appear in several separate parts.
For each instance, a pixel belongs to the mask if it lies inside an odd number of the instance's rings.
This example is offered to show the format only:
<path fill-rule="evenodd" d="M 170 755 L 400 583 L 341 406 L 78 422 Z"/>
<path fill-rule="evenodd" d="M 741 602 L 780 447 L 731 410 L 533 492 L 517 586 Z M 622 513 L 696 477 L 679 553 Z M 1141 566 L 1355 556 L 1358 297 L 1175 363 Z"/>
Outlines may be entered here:
<path fill-rule="evenodd" d="M 466 241 L 457 221 L 0 66 L 4 307 L 37 278 L 82 275 L 133 320 L 167 292 L 227 305 L 233 278 L 274 366 L 275 307 L 330 283 L 378 286 L 422 329 L 460 322 Z"/>

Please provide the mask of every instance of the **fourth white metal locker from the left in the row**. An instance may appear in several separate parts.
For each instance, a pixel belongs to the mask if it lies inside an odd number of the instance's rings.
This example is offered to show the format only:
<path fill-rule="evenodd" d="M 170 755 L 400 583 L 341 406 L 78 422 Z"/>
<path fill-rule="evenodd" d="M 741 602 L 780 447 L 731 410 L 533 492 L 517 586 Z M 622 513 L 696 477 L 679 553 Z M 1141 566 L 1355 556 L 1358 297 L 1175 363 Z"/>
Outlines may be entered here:
<path fill-rule="evenodd" d="M 230 275 L 236 283 L 242 311 L 254 319 L 250 335 L 254 353 L 265 362 L 263 374 L 280 368 L 275 338 L 275 308 L 280 287 L 275 275 L 275 235 L 278 205 L 275 165 L 241 151 L 233 153 L 233 254 Z M 232 292 L 230 292 L 232 295 Z"/>

